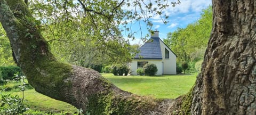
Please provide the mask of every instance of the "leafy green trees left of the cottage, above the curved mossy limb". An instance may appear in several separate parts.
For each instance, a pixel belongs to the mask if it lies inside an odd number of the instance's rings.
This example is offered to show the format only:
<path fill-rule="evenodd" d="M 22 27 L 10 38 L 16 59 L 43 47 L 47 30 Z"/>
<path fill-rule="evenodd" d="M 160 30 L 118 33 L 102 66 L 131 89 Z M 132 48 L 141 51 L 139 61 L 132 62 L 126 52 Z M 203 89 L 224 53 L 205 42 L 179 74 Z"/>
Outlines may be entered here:
<path fill-rule="evenodd" d="M 110 9 L 107 4 L 117 4 L 105 2 L 97 4 L 101 4 L 102 9 Z M 128 45 L 120 34 L 118 24 L 111 22 L 113 18 L 118 17 L 103 13 L 94 15 L 99 13 L 98 11 L 85 13 L 81 11 L 85 5 L 84 1 L 77 1 L 76 4 L 71 1 L 30 2 L 33 15 L 43 22 L 42 35 L 50 44 L 57 60 L 86 68 L 131 61 Z M 113 13 L 117 11 L 122 12 L 118 7 Z"/>

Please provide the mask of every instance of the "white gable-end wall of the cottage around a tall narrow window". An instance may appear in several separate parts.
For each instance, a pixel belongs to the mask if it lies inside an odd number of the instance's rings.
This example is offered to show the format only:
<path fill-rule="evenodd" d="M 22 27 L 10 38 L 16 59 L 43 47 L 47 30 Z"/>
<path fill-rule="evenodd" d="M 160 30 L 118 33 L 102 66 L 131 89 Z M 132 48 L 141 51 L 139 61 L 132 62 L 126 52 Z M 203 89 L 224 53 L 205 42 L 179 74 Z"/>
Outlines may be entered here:
<path fill-rule="evenodd" d="M 164 73 L 168 75 L 176 74 L 176 55 L 160 40 L 160 47 L 162 51 L 163 64 L 164 64 Z M 165 59 L 165 48 L 169 51 L 169 59 Z"/>

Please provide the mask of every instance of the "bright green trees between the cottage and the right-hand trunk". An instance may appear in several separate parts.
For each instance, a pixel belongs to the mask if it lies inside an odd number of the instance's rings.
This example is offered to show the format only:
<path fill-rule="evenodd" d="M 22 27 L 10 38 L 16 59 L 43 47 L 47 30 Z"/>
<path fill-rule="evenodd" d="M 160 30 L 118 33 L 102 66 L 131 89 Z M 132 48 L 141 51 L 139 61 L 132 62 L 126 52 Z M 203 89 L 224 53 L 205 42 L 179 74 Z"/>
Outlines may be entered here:
<path fill-rule="evenodd" d="M 212 6 L 202 10 L 201 18 L 188 24 L 186 28 L 178 28 L 169 32 L 164 43 L 178 55 L 178 65 L 188 62 L 189 71 L 196 72 L 195 64 L 203 60 L 207 42 L 212 29 Z"/>

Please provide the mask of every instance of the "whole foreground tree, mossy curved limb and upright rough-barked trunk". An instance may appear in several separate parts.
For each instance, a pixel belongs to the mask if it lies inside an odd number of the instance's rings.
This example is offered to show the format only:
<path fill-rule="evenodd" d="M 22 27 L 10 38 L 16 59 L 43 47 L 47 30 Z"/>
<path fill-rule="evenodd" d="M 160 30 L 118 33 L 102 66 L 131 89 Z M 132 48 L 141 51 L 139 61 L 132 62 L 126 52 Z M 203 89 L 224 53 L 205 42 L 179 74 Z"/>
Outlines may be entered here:
<path fill-rule="evenodd" d="M 91 69 L 59 63 L 26 4 L 0 0 L 0 22 L 29 83 L 91 114 L 256 114 L 255 15 L 254 0 L 213 0 L 213 29 L 195 86 L 175 100 L 157 100 L 122 91 Z"/>

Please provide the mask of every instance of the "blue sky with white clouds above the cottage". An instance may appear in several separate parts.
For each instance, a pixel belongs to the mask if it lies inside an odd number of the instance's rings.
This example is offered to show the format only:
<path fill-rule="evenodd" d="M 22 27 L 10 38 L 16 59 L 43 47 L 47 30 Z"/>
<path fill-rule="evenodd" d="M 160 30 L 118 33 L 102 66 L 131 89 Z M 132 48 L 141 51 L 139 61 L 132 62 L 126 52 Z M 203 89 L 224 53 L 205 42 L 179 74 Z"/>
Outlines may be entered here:
<path fill-rule="evenodd" d="M 153 30 L 159 31 L 159 38 L 164 39 L 167 37 L 168 32 L 173 32 L 177 28 L 186 28 L 189 23 L 197 21 L 201 17 L 203 9 L 206 9 L 209 5 L 212 4 L 211 0 L 180 0 L 181 4 L 172 7 L 171 2 L 170 6 L 163 10 L 162 13 L 169 16 L 167 24 L 164 24 L 161 17 L 154 16 L 150 20 L 153 22 Z M 154 5 L 154 4 L 153 4 Z M 127 9 L 127 7 L 125 7 Z M 132 22 L 132 31 L 138 31 L 139 22 Z M 141 24 L 142 36 L 148 34 L 145 23 Z M 131 44 L 143 44 L 141 42 L 141 33 L 135 35 L 135 40 L 127 38 L 128 32 L 122 32 L 122 35 L 125 39 L 129 39 Z"/>

